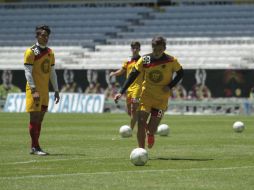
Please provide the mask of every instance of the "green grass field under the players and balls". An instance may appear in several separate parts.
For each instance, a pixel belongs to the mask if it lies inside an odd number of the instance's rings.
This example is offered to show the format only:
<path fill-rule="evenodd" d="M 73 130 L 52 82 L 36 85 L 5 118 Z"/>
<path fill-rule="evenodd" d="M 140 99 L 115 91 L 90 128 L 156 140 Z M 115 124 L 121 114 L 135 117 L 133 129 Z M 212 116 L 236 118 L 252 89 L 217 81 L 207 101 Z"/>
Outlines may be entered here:
<path fill-rule="evenodd" d="M 129 160 L 135 134 L 119 137 L 128 123 L 127 114 L 48 113 L 40 142 L 51 154 L 39 157 L 29 155 L 28 115 L 0 113 L 0 189 L 254 189 L 253 117 L 166 115 L 170 136 L 156 136 L 145 166 Z"/>

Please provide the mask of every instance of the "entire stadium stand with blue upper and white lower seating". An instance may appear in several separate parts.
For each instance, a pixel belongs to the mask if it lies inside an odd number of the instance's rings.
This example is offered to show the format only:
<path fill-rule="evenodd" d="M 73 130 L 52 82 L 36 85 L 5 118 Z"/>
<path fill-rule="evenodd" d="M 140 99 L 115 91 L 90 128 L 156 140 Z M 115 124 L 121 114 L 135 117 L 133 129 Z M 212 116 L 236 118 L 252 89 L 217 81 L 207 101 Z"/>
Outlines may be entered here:
<path fill-rule="evenodd" d="M 145 54 L 155 35 L 185 69 L 254 69 L 254 0 L 0 2 L 1 70 L 23 69 L 34 27 L 45 23 L 57 69 L 117 69 L 132 40 Z"/>

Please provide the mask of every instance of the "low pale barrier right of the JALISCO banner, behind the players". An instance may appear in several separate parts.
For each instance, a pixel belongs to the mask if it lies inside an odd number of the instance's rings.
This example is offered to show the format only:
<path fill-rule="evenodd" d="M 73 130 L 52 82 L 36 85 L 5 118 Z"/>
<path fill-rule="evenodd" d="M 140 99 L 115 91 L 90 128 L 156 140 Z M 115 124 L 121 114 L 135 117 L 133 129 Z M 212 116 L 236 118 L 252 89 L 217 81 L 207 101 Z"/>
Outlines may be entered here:
<path fill-rule="evenodd" d="M 113 100 L 105 101 L 107 112 L 120 113 L 125 101 L 117 105 Z M 253 115 L 254 102 L 248 98 L 213 98 L 209 100 L 170 100 L 165 114 L 180 115 Z"/>

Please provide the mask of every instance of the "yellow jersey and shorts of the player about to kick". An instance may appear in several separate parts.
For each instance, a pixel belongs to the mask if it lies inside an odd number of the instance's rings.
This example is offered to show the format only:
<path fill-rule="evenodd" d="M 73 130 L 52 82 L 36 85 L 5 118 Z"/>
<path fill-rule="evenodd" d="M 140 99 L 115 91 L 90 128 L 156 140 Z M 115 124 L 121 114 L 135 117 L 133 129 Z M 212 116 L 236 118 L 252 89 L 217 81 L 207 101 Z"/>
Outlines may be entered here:
<path fill-rule="evenodd" d="M 152 108 L 165 111 L 171 94 L 163 87 L 172 81 L 174 72 L 182 69 L 178 60 L 166 53 L 159 59 L 147 54 L 138 60 L 135 69 L 144 75 L 139 109 L 148 113 Z"/>

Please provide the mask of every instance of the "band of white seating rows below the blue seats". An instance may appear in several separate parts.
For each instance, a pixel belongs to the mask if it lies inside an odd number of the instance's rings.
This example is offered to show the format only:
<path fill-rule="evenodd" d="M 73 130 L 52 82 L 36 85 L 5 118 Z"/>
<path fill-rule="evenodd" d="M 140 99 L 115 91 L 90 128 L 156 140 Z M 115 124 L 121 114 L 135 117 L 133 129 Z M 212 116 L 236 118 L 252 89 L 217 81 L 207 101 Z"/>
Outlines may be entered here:
<path fill-rule="evenodd" d="M 76 39 L 80 43 L 82 40 Z M 254 43 L 233 41 L 220 43 L 183 43 L 169 44 L 167 52 L 176 56 L 185 69 L 254 69 L 253 49 Z M 234 40 L 236 42 L 234 42 Z M 56 42 L 56 40 L 54 40 Z M 62 41 L 61 41 L 62 43 Z M 67 41 L 66 43 L 70 43 Z M 94 43 L 90 41 L 90 43 Z M 150 39 L 148 41 L 150 43 Z M 29 44 L 30 45 L 30 44 Z M 75 69 L 118 69 L 121 63 L 129 57 L 129 44 L 96 45 L 95 51 L 80 46 L 53 46 L 56 54 L 57 68 Z M 0 67 L 10 67 L 10 63 L 16 69 L 23 69 L 20 61 L 23 60 L 23 52 L 26 47 L 0 47 Z M 141 54 L 151 52 L 151 45 L 144 44 Z M 112 53 L 114 56 L 112 56 Z"/>

